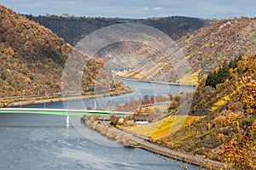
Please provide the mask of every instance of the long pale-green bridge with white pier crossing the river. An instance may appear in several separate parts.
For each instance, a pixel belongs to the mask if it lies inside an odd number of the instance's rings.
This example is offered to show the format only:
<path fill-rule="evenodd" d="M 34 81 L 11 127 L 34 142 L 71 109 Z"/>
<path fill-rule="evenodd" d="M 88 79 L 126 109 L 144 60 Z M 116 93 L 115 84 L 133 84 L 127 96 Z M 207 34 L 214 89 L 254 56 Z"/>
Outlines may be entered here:
<path fill-rule="evenodd" d="M 44 114 L 67 116 L 67 124 L 69 124 L 69 116 L 126 116 L 133 115 L 133 112 L 124 111 L 96 111 L 96 110 L 67 110 L 67 109 L 48 109 L 48 108 L 1 108 L 0 114 Z"/>

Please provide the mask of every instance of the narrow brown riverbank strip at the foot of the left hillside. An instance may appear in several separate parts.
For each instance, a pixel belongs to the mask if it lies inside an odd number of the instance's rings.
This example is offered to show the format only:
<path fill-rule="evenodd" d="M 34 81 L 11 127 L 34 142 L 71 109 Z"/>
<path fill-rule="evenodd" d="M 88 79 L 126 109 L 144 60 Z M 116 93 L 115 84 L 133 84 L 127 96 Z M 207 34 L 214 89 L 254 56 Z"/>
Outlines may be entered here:
<path fill-rule="evenodd" d="M 69 100 L 79 100 L 79 99 L 93 99 L 106 96 L 115 96 L 120 94 L 131 94 L 135 91 L 133 87 L 125 87 L 123 90 L 110 91 L 108 94 L 95 94 L 95 93 L 85 93 L 83 95 L 73 95 L 70 97 L 63 97 L 61 94 L 57 95 L 46 95 L 46 96 L 32 96 L 32 97 L 10 97 L 7 99 L 0 99 L 0 108 L 3 107 L 13 107 L 17 105 L 36 105 L 36 104 L 46 104 L 53 102 L 63 102 Z"/>

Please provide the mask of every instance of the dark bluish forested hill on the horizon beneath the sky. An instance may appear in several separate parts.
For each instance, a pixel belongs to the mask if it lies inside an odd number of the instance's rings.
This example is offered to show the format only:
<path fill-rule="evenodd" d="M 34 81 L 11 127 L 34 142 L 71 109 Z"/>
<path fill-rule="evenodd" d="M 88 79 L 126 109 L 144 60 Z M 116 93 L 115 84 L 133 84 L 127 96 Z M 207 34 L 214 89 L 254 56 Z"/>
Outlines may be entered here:
<path fill-rule="evenodd" d="M 32 16 L 26 15 L 29 20 L 34 20 L 39 24 L 54 31 L 59 37 L 73 46 L 81 38 L 105 26 L 111 26 L 121 23 L 139 23 L 147 26 L 153 26 L 160 31 L 165 32 L 172 39 L 177 40 L 188 32 L 195 31 L 205 25 L 205 20 L 173 16 L 156 19 L 119 19 L 119 18 L 92 18 L 92 17 L 61 17 L 56 15 Z"/>

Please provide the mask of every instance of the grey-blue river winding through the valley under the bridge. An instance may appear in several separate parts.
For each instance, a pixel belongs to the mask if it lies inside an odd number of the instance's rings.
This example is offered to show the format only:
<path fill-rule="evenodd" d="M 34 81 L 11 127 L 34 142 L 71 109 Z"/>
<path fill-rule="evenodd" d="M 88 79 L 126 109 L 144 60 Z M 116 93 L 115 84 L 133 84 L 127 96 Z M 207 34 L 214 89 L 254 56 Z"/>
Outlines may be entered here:
<path fill-rule="evenodd" d="M 181 88 L 148 82 L 124 81 L 136 87 L 132 94 L 66 103 L 28 105 L 26 107 L 84 108 L 124 104 L 144 95 L 177 94 Z M 189 90 L 192 90 L 190 88 Z M 81 103 L 83 103 L 81 105 Z M 21 107 L 21 106 L 20 106 Z M 22 106 L 24 107 L 24 106 Z M 164 156 L 139 148 L 128 148 L 107 139 L 72 116 L 67 127 L 66 117 L 50 115 L 0 115 L 0 169 L 197 169 Z"/>

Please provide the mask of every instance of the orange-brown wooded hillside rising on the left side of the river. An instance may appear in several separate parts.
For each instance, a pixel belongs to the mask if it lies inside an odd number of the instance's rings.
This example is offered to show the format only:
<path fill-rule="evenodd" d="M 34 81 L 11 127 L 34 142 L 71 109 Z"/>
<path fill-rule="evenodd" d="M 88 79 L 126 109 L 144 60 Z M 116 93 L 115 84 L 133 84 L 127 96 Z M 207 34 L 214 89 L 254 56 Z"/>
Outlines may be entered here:
<path fill-rule="evenodd" d="M 84 65 L 87 61 L 81 89 L 94 91 L 103 59 L 89 58 L 44 26 L 0 6 L 1 97 L 61 92 L 62 72 L 72 51 L 84 57 Z M 104 81 L 119 87 L 111 77 Z"/>

